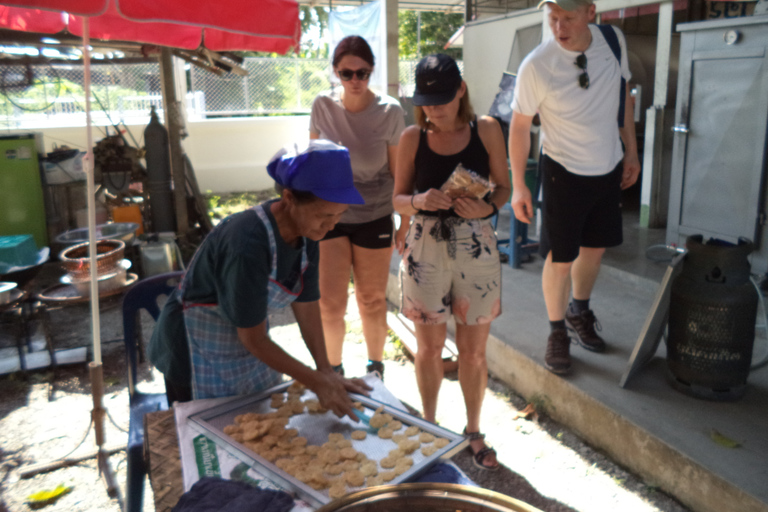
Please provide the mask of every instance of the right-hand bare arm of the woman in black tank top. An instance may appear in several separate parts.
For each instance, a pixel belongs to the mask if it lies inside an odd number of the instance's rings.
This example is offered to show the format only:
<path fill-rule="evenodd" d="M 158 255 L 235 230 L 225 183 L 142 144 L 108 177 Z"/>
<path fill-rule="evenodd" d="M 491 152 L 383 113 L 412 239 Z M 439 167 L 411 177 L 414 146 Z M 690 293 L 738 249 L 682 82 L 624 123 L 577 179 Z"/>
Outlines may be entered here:
<path fill-rule="evenodd" d="M 483 116 L 478 119 L 478 135 L 488 152 L 488 165 L 491 168 L 491 181 L 495 184 L 491 192 L 490 202 L 501 209 L 509 200 L 512 187 L 509 183 L 507 167 L 507 152 L 504 148 L 504 135 L 501 126 L 492 117 Z M 454 202 L 454 211 L 467 219 L 488 217 L 494 212 L 493 206 L 482 199 L 459 198 Z"/>

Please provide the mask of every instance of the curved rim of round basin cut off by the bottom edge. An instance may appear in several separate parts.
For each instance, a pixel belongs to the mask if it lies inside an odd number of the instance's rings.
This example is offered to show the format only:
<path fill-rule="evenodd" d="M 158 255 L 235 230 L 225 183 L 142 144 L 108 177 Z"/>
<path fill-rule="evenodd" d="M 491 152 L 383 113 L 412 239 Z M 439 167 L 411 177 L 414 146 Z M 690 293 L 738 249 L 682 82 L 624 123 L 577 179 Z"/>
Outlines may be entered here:
<path fill-rule="evenodd" d="M 541 512 L 504 494 L 458 484 L 418 483 L 365 489 L 329 503 L 317 512 Z"/>

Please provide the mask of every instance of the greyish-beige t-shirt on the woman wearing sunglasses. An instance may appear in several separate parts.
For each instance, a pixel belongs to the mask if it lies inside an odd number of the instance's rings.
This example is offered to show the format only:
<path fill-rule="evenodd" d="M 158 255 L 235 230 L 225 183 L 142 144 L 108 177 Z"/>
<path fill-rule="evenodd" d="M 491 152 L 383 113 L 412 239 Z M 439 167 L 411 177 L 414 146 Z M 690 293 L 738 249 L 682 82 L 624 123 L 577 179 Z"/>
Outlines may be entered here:
<path fill-rule="evenodd" d="M 393 212 L 394 179 L 389 169 L 388 146 L 397 146 L 405 129 L 405 113 L 391 96 L 379 96 L 362 112 L 352 113 L 341 99 L 321 93 L 312 104 L 309 131 L 346 147 L 355 188 L 365 204 L 353 204 L 339 222 L 362 224 Z M 394 165 L 394 162 L 392 162 Z"/>

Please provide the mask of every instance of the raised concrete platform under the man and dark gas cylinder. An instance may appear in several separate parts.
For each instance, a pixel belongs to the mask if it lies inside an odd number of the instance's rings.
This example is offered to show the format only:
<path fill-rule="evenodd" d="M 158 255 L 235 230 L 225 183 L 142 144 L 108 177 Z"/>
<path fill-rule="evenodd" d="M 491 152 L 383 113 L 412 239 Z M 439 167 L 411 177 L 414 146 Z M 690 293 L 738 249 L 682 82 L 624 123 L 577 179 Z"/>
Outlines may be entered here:
<path fill-rule="evenodd" d="M 508 219 L 502 212 L 500 230 Z M 573 371 L 566 377 L 544 368 L 549 326 L 541 294 L 543 262 L 535 257 L 521 269 L 503 265 L 503 314 L 491 329 L 489 369 L 692 510 L 766 512 L 768 367 L 752 370 L 740 400 L 694 398 L 670 385 L 661 343 L 626 388 L 619 386 L 666 269 L 645 256 L 646 247 L 664 242 L 664 230 L 639 228 L 632 213 L 624 225 L 625 243 L 606 255 L 591 303 L 609 350 L 594 354 L 573 345 Z M 395 255 L 394 275 L 397 263 Z M 391 290 L 395 303 L 396 295 Z M 755 360 L 768 352 L 764 332 L 758 330 L 757 338 Z M 726 446 L 729 441 L 738 447 Z"/>

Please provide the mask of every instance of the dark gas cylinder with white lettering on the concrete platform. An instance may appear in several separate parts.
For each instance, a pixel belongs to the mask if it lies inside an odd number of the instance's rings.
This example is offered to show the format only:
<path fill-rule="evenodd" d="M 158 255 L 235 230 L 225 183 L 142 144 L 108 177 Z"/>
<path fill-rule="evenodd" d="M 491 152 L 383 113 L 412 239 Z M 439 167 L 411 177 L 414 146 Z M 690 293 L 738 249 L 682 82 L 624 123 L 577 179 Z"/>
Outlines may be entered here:
<path fill-rule="evenodd" d="M 683 269 L 672 282 L 667 363 L 685 393 L 734 400 L 752 362 L 758 296 L 747 256 L 755 246 L 689 236 Z"/>

